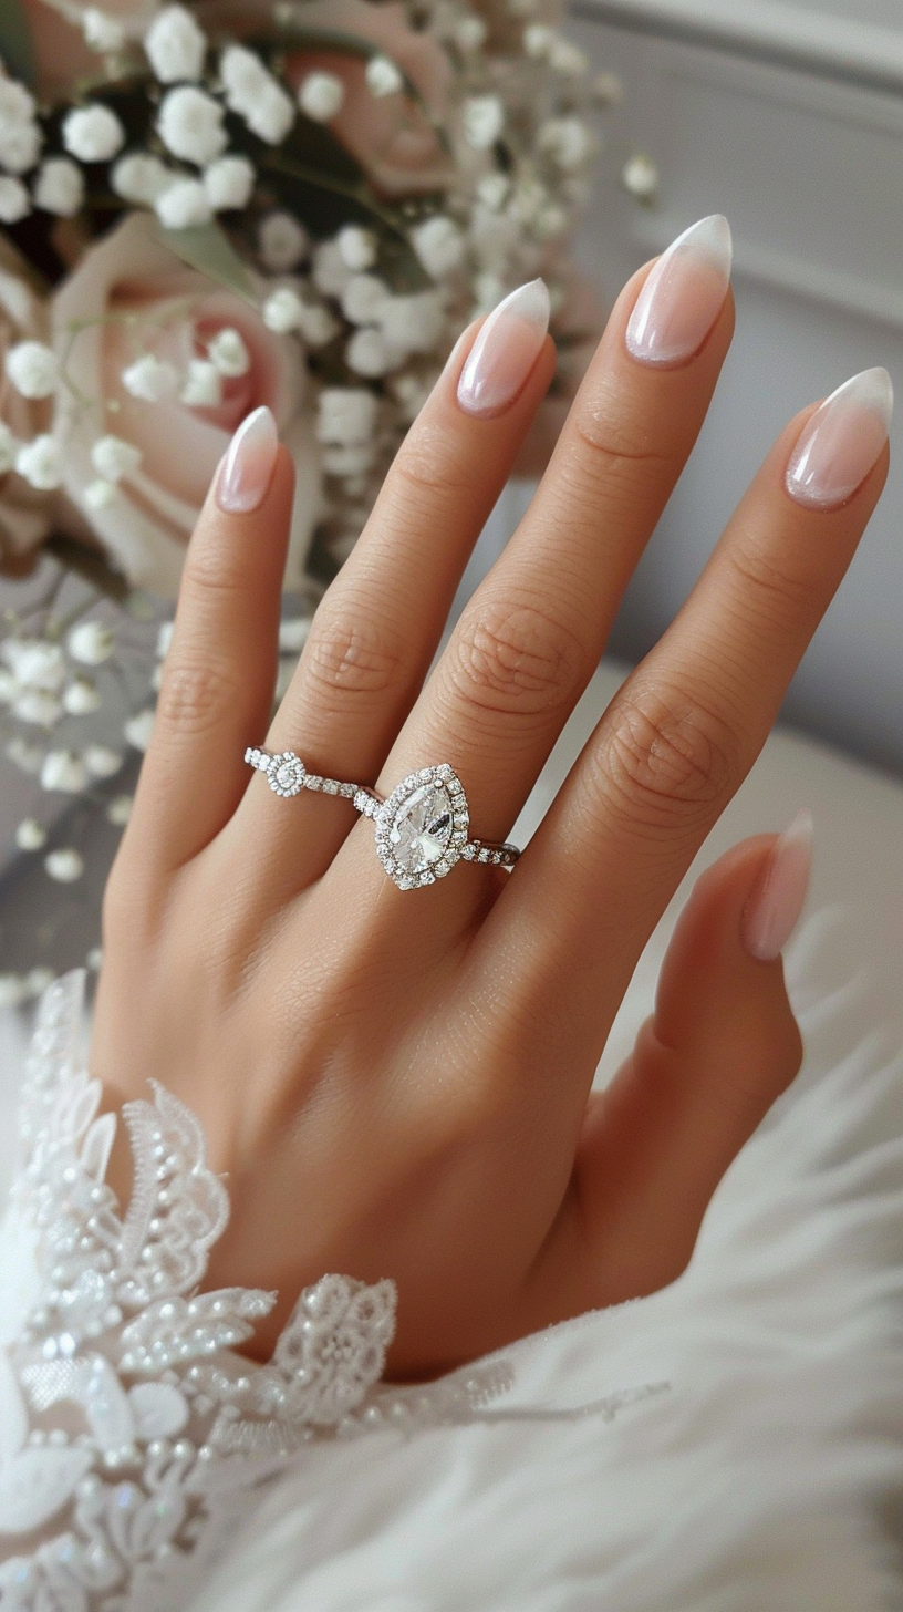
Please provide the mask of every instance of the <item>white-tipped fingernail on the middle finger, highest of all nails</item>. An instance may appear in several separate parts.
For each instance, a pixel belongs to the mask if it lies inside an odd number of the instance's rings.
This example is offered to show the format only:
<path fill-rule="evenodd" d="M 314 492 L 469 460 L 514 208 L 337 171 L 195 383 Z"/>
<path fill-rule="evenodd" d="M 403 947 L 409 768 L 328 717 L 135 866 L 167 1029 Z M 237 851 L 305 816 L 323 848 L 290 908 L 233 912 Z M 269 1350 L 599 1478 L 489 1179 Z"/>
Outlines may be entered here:
<path fill-rule="evenodd" d="M 721 213 L 690 224 L 651 269 L 627 326 L 642 364 L 679 364 L 700 350 L 730 284 L 730 224 Z"/>

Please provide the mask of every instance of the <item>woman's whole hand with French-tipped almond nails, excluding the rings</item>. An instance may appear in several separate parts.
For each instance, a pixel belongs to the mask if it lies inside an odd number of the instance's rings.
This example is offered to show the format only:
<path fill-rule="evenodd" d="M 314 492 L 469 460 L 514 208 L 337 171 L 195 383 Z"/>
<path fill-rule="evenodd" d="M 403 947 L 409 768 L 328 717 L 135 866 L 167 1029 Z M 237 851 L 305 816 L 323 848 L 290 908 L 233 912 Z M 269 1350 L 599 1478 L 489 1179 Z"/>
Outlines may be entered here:
<path fill-rule="evenodd" d="M 210 1282 L 398 1285 L 393 1377 L 435 1373 L 685 1265 L 800 1062 L 779 949 L 806 835 L 698 882 L 655 1019 L 589 1098 L 666 903 L 755 761 L 887 471 L 884 371 L 782 434 L 677 619 L 513 874 L 402 891 L 350 801 L 279 800 L 247 745 L 376 782 L 448 761 L 501 840 L 590 679 L 730 342 L 705 221 L 622 292 L 519 530 L 424 687 L 553 369 L 534 285 L 471 327 L 316 614 L 271 725 L 292 469 L 239 434 L 192 538 L 153 740 L 105 903 L 92 1066 L 200 1116 L 231 1225 Z"/>

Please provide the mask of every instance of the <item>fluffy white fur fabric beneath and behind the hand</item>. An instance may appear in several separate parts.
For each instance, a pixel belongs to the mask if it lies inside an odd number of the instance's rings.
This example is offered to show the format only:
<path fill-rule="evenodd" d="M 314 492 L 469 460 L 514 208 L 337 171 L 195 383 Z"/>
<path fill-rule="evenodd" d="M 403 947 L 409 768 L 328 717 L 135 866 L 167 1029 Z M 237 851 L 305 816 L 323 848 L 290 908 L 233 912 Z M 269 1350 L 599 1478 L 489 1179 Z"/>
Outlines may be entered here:
<path fill-rule="evenodd" d="M 618 679 L 597 677 L 514 841 Z M 685 1277 L 503 1351 L 514 1381 L 493 1414 L 511 1420 L 308 1444 L 194 1612 L 903 1606 L 903 788 L 776 735 L 700 861 L 800 804 L 816 819 L 814 916 L 789 956 L 806 1066 Z M 600 1078 L 648 1011 L 677 904 Z M 619 1391 L 656 1383 L 613 1420 Z M 587 1401 L 605 1402 L 535 1409 Z"/>

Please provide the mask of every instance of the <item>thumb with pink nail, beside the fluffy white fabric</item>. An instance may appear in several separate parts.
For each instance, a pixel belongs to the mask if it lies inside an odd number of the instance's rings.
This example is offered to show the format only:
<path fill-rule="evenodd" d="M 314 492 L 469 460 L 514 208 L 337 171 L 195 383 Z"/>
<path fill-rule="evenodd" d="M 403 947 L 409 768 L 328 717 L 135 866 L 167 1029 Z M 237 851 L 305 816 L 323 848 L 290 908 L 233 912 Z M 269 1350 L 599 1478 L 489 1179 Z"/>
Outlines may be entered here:
<path fill-rule="evenodd" d="M 809 867 L 811 817 L 800 812 L 780 837 L 745 840 L 701 874 L 671 937 L 655 1014 L 590 1099 L 577 1178 L 603 1302 L 684 1270 L 727 1165 L 800 1069 L 780 949 Z"/>

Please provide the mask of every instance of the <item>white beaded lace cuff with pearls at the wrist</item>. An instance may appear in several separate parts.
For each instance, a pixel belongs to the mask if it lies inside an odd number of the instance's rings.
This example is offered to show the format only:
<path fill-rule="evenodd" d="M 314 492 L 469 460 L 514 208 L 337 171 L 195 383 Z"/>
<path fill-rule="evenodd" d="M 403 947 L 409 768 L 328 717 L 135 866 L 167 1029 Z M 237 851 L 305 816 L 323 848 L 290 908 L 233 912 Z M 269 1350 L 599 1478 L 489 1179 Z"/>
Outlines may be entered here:
<path fill-rule="evenodd" d="M 2 1612 L 176 1612 L 248 1489 L 314 1438 L 387 1422 L 571 1417 L 485 1406 L 513 1383 L 489 1359 L 413 1388 L 377 1386 L 393 1282 L 326 1275 L 302 1293 L 268 1365 L 235 1354 L 274 1293 L 198 1293 L 229 1201 L 200 1124 L 164 1086 L 123 1109 L 134 1156 L 124 1219 L 106 1185 L 116 1116 L 81 1061 L 84 970 L 45 993 L 21 1096 L 21 1159 L 0 1227 Z"/>

